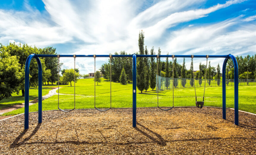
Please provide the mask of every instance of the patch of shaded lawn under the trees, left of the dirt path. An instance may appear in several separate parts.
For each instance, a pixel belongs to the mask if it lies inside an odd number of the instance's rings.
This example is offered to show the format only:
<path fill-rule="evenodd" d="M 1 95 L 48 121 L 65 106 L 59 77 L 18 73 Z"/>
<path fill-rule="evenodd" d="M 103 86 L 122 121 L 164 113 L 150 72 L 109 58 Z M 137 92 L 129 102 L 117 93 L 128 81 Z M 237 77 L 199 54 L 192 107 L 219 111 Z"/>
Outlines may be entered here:
<path fill-rule="evenodd" d="M 52 88 L 42 88 L 42 95 L 46 95 L 49 93 L 49 91 L 52 90 Z M 38 97 L 38 89 L 30 88 L 29 89 L 29 101 L 32 101 Z M 0 101 L 0 110 L 4 107 L 10 107 L 12 105 L 19 105 L 21 103 L 24 103 L 24 97 L 22 97 L 22 93 L 17 95 L 16 93 L 12 94 L 12 97 L 8 99 L 2 99 Z"/>

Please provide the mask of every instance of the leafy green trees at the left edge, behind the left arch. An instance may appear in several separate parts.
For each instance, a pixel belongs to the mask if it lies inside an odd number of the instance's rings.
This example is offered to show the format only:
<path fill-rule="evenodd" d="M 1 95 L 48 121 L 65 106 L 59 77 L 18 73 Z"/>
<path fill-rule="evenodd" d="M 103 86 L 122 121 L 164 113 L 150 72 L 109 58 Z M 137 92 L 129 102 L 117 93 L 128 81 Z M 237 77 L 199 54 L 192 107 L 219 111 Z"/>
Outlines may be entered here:
<path fill-rule="evenodd" d="M 28 56 L 35 54 L 52 54 L 56 55 L 56 48 L 31 47 L 27 44 L 2 45 L 0 43 L 0 100 L 8 98 L 12 93 L 25 95 L 25 63 Z M 55 83 L 58 80 L 58 59 L 57 58 L 40 58 L 42 64 L 42 82 L 43 84 Z M 60 63 L 60 68 L 62 63 Z M 67 69 L 62 72 L 60 77 L 61 84 L 71 85 L 74 81 L 74 69 Z M 76 81 L 80 76 L 79 70 L 76 70 Z M 32 59 L 29 67 L 29 85 L 36 88 L 38 85 L 38 66 L 36 60 Z"/>

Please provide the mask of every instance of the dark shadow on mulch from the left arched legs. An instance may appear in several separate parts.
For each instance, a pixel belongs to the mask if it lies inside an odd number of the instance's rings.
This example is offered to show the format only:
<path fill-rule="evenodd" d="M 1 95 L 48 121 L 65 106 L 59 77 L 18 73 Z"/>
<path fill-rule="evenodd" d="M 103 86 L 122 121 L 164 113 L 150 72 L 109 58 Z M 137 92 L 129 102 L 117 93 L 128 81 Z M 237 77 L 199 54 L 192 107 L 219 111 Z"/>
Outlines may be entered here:
<path fill-rule="evenodd" d="M 18 147 L 20 145 L 22 145 L 24 142 L 28 141 L 31 137 L 33 137 L 38 129 L 40 128 L 41 123 L 38 123 L 37 126 L 35 127 L 35 129 L 33 130 L 33 132 L 27 137 L 25 138 L 23 141 L 19 142 L 20 139 L 26 134 L 26 132 L 28 131 L 28 129 L 24 129 L 22 133 L 20 133 L 20 135 L 12 142 L 12 144 L 10 145 L 10 148 L 15 148 Z M 19 142 L 19 143 L 18 143 Z"/>

